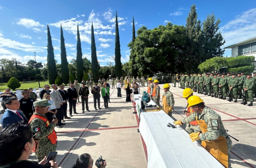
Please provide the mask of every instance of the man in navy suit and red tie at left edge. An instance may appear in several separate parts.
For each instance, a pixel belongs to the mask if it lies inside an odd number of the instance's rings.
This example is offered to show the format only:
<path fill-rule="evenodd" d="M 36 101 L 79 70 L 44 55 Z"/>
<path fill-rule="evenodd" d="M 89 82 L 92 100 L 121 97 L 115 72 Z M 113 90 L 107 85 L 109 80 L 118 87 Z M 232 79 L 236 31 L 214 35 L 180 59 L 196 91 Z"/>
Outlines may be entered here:
<path fill-rule="evenodd" d="M 3 128 L 9 127 L 11 124 L 20 122 L 22 120 L 28 122 L 26 117 L 23 116 L 23 114 L 17 110 L 20 108 L 20 102 L 17 98 L 7 98 L 5 99 L 4 103 L 7 107 L 7 110 L 5 111 L 1 119 L 1 124 Z"/>

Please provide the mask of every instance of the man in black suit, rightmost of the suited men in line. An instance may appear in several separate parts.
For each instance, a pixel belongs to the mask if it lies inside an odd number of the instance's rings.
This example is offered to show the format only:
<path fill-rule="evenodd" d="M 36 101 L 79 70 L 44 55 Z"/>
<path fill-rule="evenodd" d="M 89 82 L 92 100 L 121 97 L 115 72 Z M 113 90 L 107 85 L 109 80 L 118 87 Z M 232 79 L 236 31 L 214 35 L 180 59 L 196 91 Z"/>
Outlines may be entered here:
<path fill-rule="evenodd" d="M 76 99 L 77 99 L 77 92 L 74 88 L 73 83 L 69 84 L 69 88 L 67 89 L 67 95 L 68 95 L 68 102 L 69 102 L 69 116 L 72 117 L 72 107 L 74 110 L 74 114 L 76 113 Z"/>

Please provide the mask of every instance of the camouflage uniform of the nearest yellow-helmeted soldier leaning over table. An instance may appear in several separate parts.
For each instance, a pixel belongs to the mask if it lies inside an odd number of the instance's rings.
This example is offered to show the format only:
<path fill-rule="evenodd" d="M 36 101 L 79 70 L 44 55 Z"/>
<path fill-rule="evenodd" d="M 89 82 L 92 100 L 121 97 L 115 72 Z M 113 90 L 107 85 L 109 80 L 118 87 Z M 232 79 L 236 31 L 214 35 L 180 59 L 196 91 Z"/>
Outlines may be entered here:
<path fill-rule="evenodd" d="M 205 133 L 199 134 L 200 140 L 212 141 L 212 140 L 216 140 L 217 138 L 219 138 L 219 136 L 226 137 L 227 149 L 228 149 L 228 165 L 230 166 L 231 165 L 230 164 L 230 148 L 233 147 L 233 144 L 224 128 L 224 125 L 221 121 L 220 116 L 214 110 L 205 106 L 202 113 L 192 113 L 189 117 L 182 119 L 181 123 L 189 123 L 189 122 L 195 121 L 196 116 L 198 116 L 198 120 L 204 120 L 205 123 L 208 125 L 208 127 L 207 127 L 208 131 Z M 213 125 L 211 124 L 212 119 L 217 120 L 217 123 L 218 123 L 217 128 L 213 127 Z"/>

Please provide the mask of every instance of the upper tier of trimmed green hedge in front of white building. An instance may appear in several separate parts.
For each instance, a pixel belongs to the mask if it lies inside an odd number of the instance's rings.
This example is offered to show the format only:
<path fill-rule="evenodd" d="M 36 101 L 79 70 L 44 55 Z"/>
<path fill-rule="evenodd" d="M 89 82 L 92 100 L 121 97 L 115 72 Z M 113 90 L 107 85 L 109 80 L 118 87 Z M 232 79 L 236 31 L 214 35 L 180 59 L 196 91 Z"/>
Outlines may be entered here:
<path fill-rule="evenodd" d="M 231 57 L 228 58 L 228 67 L 242 67 L 246 65 L 251 65 L 254 61 L 254 56 L 238 56 L 238 57 Z"/>

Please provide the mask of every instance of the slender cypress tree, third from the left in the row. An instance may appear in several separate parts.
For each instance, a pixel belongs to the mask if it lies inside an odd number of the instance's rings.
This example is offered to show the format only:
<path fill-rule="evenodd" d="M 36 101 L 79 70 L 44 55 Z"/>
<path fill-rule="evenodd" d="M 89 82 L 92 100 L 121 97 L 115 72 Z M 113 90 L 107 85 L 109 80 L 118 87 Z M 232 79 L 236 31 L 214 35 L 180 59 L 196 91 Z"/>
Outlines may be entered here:
<path fill-rule="evenodd" d="M 83 58 L 81 40 L 77 23 L 77 44 L 76 44 L 76 80 L 80 83 L 83 78 Z"/>

